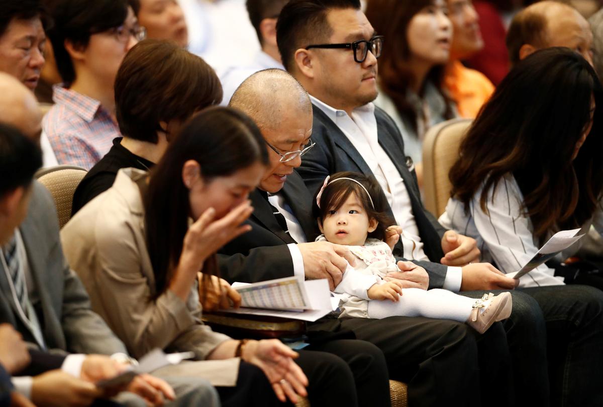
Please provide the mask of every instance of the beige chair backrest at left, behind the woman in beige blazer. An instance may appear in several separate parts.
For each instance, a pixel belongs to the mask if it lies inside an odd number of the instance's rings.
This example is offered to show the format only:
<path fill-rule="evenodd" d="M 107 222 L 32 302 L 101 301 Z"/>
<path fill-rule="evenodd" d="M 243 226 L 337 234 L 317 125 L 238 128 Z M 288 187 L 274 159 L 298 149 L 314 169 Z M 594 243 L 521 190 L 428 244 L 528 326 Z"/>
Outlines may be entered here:
<path fill-rule="evenodd" d="M 62 228 L 71 218 L 71 203 L 75 188 L 84 176 L 86 170 L 74 165 L 57 165 L 42 168 L 36 173 L 36 179 L 50 191 L 57 207 L 58 225 Z"/>

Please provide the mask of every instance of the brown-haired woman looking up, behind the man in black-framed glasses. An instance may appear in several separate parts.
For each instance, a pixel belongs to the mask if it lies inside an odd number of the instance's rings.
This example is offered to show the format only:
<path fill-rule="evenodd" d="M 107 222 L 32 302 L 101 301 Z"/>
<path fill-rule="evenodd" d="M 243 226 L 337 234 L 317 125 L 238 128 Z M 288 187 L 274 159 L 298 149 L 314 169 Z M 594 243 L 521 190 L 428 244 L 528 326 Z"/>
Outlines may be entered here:
<path fill-rule="evenodd" d="M 443 83 L 452 42 L 447 1 L 368 0 L 366 15 L 385 37 L 375 104 L 399 127 L 405 153 L 417 164 L 421 185 L 426 131 L 457 115 Z"/>

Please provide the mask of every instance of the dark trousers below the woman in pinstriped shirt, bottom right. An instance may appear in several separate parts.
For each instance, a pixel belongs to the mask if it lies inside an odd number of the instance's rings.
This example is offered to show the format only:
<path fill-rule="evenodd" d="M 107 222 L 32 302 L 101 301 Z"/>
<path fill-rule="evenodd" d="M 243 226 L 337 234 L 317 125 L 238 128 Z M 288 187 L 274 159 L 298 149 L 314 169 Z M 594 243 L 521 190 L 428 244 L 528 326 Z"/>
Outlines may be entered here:
<path fill-rule="evenodd" d="M 513 312 L 503 325 L 516 405 L 603 406 L 603 386 L 595 379 L 603 365 L 603 292 L 575 285 L 511 295 Z"/>

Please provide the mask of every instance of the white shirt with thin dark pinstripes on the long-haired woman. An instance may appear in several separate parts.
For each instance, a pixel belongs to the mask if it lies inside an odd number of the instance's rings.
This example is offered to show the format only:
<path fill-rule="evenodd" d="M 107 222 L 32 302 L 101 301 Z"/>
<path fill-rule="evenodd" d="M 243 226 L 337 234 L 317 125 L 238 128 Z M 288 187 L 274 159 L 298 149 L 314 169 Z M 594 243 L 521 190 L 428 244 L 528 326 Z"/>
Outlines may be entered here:
<path fill-rule="evenodd" d="M 522 211 L 523 194 L 511 174 L 504 176 L 496 188 L 488 191 L 487 211 L 482 211 L 478 190 L 470 202 L 469 213 L 463 203 L 450 199 L 439 221 L 444 228 L 454 229 L 478 242 L 482 261 L 494 261 L 504 273 L 521 269 L 538 251 L 539 245 L 532 231 L 532 222 Z M 590 228 L 584 225 L 584 230 Z M 561 257 L 567 258 L 578 248 L 571 246 Z M 561 260 L 561 258 L 560 258 Z M 554 269 L 541 264 L 522 278 L 520 287 L 554 286 L 563 284 L 562 277 L 554 277 Z"/>

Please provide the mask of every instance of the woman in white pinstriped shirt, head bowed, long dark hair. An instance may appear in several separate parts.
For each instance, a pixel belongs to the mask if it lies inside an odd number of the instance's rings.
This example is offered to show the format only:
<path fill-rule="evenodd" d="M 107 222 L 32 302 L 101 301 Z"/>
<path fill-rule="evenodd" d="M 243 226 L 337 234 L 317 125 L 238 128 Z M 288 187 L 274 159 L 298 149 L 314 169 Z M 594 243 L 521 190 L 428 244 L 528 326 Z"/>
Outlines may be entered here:
<path fill-rule="evenodd" d="M 461 144 L 440 223 L 478 240 L 483 258 L 505 273 L 558 231 L 603 231 L 601 97 L 592 66 L 567 48 L 520 62 Z M 520 278 L 520 287 L 561 284 L 546 264 Z"/>

